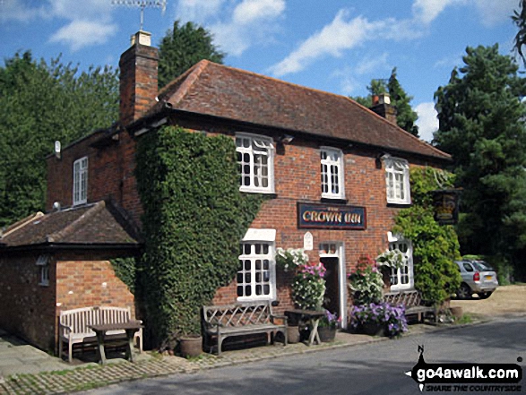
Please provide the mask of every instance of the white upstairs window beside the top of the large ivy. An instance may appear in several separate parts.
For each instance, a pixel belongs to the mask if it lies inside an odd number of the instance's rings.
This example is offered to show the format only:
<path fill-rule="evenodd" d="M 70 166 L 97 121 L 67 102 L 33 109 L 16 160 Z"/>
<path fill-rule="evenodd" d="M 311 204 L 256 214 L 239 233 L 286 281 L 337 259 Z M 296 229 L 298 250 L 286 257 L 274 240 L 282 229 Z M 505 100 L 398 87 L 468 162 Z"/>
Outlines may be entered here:
<path fill-rule="evenodd" d="M 272 138 L 250 133 L 236 133 L 236 152 L 240 176 L 239 191 L 274 193 L 274 143 Z M 261 162 L 265 157 L 267 158 L 266 175 L 264 174 L 265 166 Z M 248 167 L 248 172 L 246 172 L 246 167 Z M 263 186 L 265 179 L 267 185 Z"/>

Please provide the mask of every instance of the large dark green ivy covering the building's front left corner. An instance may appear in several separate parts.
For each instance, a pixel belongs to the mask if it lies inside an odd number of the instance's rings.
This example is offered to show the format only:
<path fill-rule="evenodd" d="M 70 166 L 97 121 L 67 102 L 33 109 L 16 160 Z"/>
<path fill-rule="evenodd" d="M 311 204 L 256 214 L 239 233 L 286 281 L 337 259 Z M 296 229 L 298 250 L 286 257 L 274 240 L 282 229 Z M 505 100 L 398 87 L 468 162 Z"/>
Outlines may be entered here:
<path fill-rule="evenodd" d="M 154 342 L 201 331 L 200 308 L 238 270 L 239 241 L 263 197 L 239 192 L 233 139 L 177 127 L 137 147 L 145 253 L 139 298 Z"/>

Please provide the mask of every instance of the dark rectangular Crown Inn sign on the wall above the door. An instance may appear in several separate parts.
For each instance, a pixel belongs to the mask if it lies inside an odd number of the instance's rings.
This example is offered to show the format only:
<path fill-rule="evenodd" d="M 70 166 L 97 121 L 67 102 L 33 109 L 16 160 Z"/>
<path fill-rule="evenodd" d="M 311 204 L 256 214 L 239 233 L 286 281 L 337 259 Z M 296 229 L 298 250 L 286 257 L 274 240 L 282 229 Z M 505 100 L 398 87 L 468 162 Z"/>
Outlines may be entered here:
<path fill-rule="evenodd" d="M 298 228 L 366 228 L 366 208 L 329 204 L 297 203 Z"/>

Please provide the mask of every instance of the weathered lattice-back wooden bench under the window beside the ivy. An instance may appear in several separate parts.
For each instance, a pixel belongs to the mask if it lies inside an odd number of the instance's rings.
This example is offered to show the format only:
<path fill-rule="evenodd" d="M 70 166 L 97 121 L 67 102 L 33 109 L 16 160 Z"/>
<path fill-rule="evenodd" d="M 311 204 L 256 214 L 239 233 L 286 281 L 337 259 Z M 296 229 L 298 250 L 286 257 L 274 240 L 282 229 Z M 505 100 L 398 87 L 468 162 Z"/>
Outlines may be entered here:
<path fill-rule="evenodd" d="M 279 321 L 280 322 L 279 322 Z M 287 317 L 274 315 L 271 302 L 239 305 L 203 306 L 203 329 L 206 345 L 211 350 L 208 340 L 217 338 L 218 356 L 224 339 L 230 336 L 266 333 L 267 344 L 277 332 L 283 333 L 287 345 Z"/>

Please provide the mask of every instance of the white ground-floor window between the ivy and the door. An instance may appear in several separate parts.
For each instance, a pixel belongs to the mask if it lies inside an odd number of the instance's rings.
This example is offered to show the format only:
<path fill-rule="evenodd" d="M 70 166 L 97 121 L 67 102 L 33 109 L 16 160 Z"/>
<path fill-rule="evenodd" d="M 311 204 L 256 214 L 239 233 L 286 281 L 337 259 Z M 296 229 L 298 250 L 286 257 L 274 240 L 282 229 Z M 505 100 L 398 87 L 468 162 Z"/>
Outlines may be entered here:
<path fill-rule="evenodd" d="M 276 230 L 275 229 L 248 229 L 246 236 L 241 241 L 241 253 L 239 255 L 240 268 L 236 274 L 236 293 L 239 288 L 242 289 L 242 296 L 237 296 L 238 302 L 252 302 L 258 300 L 275 300 L 276 299 L 276 248 L 275 248 Z M 246 251 L 246 245 L 249 245 L 250 251 Z M 261 246 L 260 253 L 256 253 L 256 245 Z M 264 253 L 263 245 L 268 245 L 268 250 Z M 260 261 L 260 268 L 256 268 L 256 261 Z M 268 261 L 268 269 L 264 269 L 264 261 Z M 250 267 L 246 268 L 246 262 L 250 262 Z M 259 272 L 258 272 L 259 271 Z M 268 271 L 268 281 L 257 281 L 257 274 L 264 276 L 264 271 Z M 246 275 L 249 275 L 249 282 L 246 282 Z M 239 281 L 241 279 L 241 281 Z M 258 285 L 264 285 L 268 282 L 269 293 L 266 295 L 255 295 Z M 245 289 L 250 285 L 251 295 L 246 296 Z"/>

